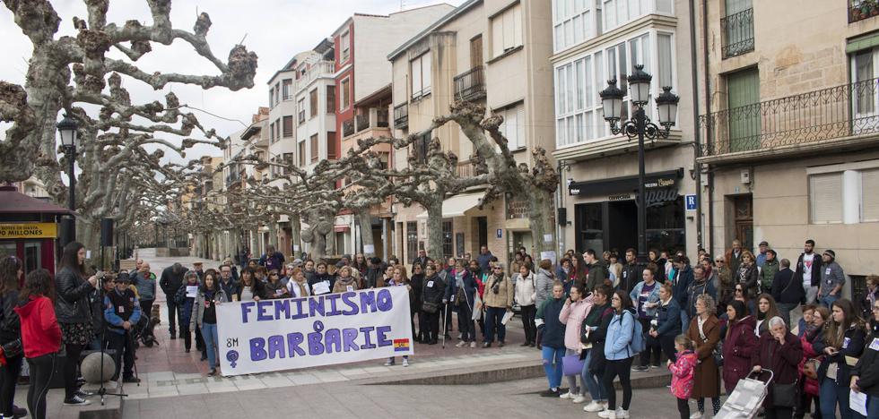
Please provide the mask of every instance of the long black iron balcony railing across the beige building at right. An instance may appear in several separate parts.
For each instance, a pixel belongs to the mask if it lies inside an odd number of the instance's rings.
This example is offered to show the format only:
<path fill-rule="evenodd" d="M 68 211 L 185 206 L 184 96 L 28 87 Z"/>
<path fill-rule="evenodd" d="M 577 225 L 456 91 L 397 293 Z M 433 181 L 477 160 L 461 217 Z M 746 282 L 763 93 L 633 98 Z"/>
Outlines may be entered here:
<path fill-rule="evenodd" d="M 699 124 L 703 156 L 879 133 L 879 79 L 701 115 Z"/>

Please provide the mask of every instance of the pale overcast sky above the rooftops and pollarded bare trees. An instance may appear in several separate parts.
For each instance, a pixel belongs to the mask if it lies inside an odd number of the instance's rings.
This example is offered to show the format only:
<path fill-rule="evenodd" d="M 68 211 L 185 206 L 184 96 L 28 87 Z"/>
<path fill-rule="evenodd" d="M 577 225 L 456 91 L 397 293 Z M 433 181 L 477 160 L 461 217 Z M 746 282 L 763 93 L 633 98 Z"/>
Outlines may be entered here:
<path fill-rule="evenodd" d="M 255 87 L 250 90 L 232 92 L 223 88 L 202 90 L 195 86 L 170 85 L 165 90 L 153 91 L 143 83 L 126 80 L 125 87 L 131 92 L 132 102 L 143 104 L 161 100 L 165 93 L 173 90 L 180 102 L 199 107 L 216 115 L 248 124 L 257 107 L 267 106 L 268 79 L 287 61 L 300 51 L 318 45 L 322 38 L 330 36 L 352 13 L 387 14 L 428 4 L 448 3 L 459 5 L 464 0 L 258 0 L 241 2 L 233 0 L 174 0 L 171 21 L 175 28 L 192 30 L 196 15 L 200 12 L 210 14 L 213 22 L 208 33 L 213 54 L 223 62 L 229 50 L 242 38 L 248 50 L 259 56 Z M 83 1 L 53 0 L 62 23 L 59 35 L 73 35 L 73 17 L 87 18 Z M 143 0 L 115 0 L 110 3 L 108 21 L 122 25 L 135 19 L 143 24 L 151 24 L 149 7 Z M 13 21 L 13 13 L 0 6 L 0 47 L 4 65 L 0 65 L 0 80 L 24 84 L 30 57 L 30 40 Z M 401 39 L 401 43 L 405 39 Z M 176 41 L 165 47 L 152 44 L 153 52 L 138 60 L 135 65 L 146 73 L 155 71 L 189 74 L 216 74 L 213 64 L 197 56 L 185 42 Z M 122 58 L 115 49 L 109 56 Z M 201 112 L 195 112 L 206 128 L 216 128 L 223 136 L 243 128 L 237 121 L 225 121 Z M 0 124 L 5 131 L 8 125 Z M 3 138 L 4 133 L 0 133 Z M 167 154 L 167 153 L 166 153 Z M 201 155 L 222 155 L 220 150 L 210 146 L 200 146 L 187 153 L 187 159 Z M 175 158 L 176 159 L 176 158 Z"/>

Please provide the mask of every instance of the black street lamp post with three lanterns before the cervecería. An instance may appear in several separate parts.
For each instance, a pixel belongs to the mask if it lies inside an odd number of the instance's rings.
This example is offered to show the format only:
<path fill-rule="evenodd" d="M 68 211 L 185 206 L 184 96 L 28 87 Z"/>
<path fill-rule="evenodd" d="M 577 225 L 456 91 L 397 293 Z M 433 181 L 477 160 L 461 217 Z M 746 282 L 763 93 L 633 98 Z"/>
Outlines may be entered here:
<path fill-rule="evenodd" d="M 672 93 L 672 88 L 663 86 L 662 94 L 656 99 L 658 109 L 659 125 L 657 126 L 650 121 L 644 107 L 650 101 L 650 81 L 653 79 L 648 73 L 644 72 L 644 65 L 635 65 L 635 70 L 629 75 L 629 92 L 631 104 L 634 109 L 631 118 L 628 121 L 620 122 L 622 114 L 622 98 L 625 92 L 616 87 L 616 79 L 607 81 L 607 89 L 599 93 L 601 96 L 602 107 L 605 113 L 605 121 L 611 125 L 611 132 L 616 134 L 624 133 L 629 140 L 638 139 L 638 264 L 646 266 L 648 262 L 647 256 L 647 206 L 645 205 L 644 193 L 644 139 L 656 140 L 657 138 L 668 138 L 671 127 L 674 126 L 674 119 L 677 115 L 677 102 L 680 98 Z"/>

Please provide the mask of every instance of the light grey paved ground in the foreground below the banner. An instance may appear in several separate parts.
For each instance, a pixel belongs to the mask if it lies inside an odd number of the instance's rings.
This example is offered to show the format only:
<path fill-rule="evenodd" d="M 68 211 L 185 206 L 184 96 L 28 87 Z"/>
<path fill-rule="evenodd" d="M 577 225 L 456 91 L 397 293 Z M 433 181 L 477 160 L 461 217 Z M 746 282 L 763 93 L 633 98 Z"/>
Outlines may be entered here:
<path fill-rule="evenodd" d="M 544 379 L 461 386 L 356 385 L 349 382 L 126 400 L 126 419 L 291 418 L 597 418 L 570 400 L 541 398 Z M 622 399 L 617 392 L 618 400 Z M 691 404 L 692 408 L 695 405 Z M 710 404 L 709 404 L 710 406 Z M 635 390 L 632 418 L 679 417 L 668 389 Z M 283 414 L 282 414 L 283 412 Z"/>

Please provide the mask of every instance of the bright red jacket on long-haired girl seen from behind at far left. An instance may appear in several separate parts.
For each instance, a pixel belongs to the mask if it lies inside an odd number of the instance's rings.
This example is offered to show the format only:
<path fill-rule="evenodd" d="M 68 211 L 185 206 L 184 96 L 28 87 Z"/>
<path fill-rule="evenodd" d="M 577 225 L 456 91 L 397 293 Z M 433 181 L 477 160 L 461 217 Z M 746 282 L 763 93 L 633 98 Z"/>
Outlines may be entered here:
<path fill-rule="evenodd" d="M 22 320 L 22 346 L 26 358 L 53 354 L 61 349 L 61 328 L 55 317 L 55 304 L 45 296 L 15 307 Z"/>

